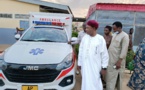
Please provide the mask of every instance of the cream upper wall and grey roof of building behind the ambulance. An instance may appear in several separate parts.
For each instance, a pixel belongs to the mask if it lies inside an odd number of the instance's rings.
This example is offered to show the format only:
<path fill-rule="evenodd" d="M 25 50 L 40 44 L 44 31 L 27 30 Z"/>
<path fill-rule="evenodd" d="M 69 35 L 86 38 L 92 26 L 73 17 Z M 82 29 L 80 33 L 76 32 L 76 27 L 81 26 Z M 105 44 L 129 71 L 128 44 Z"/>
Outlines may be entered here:
<path fill-rule="evenodd" d="M 66 5 L 41 0 L 0 0 L 0 28 L 28 28 L 30 12 L 71 13 L 71 10 Z"/>

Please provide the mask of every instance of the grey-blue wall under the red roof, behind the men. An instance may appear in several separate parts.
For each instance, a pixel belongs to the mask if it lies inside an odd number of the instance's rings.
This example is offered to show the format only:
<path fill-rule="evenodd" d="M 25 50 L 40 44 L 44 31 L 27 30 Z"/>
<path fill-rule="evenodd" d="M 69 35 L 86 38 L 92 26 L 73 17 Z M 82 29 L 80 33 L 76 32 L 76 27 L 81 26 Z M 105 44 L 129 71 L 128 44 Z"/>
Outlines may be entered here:
<path fill-rule="evenodd" d="M 95 19 L 99 22 L 98 33 L 101 35 L 104 34 L 104 27 L 106 25 L 112 25 L 115 21 L 122 22 L 123 30 L 127 33 L 129 33 L 130 28 L 134 28 L 134 46 L 137 46 L 145 37 L 144 12 L 98 10 L 88 18 L 88 20 L 90 19 Z"/>

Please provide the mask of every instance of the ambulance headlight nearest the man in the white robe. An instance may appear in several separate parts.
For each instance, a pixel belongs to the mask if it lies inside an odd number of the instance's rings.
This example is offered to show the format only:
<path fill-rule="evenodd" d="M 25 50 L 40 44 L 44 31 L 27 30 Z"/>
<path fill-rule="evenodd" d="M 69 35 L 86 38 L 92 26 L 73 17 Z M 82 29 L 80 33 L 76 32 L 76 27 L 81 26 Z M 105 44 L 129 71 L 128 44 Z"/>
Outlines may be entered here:
<path fill-rule="evenodd" d="M 65 59 L 57 65 L 56 69 L 57 70 L 63 70 L 63 69 L 66 69 L 66 68 L 70 67 L 73 63 L 72 59 L 73 59 L 72 54 L 67 55 L 65 57 Z"/>

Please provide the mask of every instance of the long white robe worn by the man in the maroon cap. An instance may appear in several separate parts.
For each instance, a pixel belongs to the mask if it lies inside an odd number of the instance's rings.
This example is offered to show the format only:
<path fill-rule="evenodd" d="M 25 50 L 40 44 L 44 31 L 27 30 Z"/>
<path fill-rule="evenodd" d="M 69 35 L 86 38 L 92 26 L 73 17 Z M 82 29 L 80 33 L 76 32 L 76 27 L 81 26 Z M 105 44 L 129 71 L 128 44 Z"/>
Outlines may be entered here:
<path fill-rule="evenodd" d="M 99 34 L 94 37 L 86 34 L 81 41 L 78 58 L 82 72 L 81 90 L 103 90 L 100 71 L 107 68 L 108 60 L 104 38 Z"/>

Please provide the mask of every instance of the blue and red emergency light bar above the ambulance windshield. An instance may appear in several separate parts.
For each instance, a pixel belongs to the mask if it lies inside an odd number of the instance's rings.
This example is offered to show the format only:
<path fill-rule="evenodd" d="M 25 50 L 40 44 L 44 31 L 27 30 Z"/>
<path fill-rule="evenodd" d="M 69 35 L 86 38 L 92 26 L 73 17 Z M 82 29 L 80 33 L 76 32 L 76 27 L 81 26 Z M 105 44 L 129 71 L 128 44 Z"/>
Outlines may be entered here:
<path fill-rule="evenodd" d="M 36 25 L 54 25 L 54 26 L 64 26 L 65 23 L 62 22 L 44 22 L 44 21 L 33 21 Z"/>

